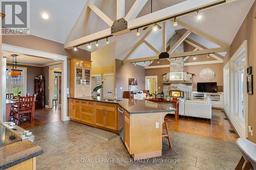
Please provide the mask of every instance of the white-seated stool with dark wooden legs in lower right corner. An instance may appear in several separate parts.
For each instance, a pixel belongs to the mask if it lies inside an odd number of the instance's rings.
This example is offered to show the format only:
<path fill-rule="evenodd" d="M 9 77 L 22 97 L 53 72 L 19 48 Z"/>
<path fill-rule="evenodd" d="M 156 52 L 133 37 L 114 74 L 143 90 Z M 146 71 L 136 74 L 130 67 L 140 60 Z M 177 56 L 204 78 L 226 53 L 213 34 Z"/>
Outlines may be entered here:
<path fill-rule="evenodd" d="M 236 167 L 236 170 L 256 169 L 256 144 L 245 138 L 238 138 L 236 140 L 236 144 L 243 155 Z"/>

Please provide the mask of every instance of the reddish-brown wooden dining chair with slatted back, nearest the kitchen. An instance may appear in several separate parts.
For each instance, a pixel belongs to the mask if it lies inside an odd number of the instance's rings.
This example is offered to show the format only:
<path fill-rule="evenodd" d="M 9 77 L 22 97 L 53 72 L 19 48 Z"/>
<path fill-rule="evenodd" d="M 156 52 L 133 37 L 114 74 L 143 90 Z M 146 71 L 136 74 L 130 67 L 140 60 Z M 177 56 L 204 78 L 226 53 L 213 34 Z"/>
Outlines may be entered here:
<path fill-rule="evenodd" d="M 14 122 L 19 125 L 21 118 L 29 118 L 32 122 L 33 114 L 33 96 L 22 96 L 18 97 L 18 105 L 13 106 L 13 117 Z"/>

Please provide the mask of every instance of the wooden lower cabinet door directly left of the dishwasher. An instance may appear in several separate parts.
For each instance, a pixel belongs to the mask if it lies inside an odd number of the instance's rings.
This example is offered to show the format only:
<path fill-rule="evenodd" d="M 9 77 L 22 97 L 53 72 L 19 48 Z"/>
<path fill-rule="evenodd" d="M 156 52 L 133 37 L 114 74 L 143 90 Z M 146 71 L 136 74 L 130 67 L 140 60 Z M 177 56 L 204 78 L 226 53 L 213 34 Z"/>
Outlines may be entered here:
<path fill-rule="evenodd" d="M 117 117 L 115 108 L 105 108 L 106 128 L 117 130 Z"/>

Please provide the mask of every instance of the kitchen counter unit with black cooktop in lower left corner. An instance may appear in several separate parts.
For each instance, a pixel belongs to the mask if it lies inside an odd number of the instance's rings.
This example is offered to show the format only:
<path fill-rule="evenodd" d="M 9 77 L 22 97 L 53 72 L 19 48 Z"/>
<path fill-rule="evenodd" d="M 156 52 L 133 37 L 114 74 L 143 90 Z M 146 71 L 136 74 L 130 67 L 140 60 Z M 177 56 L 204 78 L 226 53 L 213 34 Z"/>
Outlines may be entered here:
<path fill-rule="evenodd" d="M 43 150 L 0 123 L 0 169 L 36 169 L 36 156 Z"/>

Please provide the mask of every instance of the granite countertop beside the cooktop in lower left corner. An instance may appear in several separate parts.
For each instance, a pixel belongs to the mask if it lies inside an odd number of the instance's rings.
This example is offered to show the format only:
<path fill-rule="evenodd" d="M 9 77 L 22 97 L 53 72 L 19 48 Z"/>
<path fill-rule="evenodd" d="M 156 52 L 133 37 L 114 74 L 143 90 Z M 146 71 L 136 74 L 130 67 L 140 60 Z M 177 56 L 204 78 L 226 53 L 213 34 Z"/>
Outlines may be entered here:
<path fill-rule="evenodd" d="M 0 169 L 6 169 L 41 155 L 44 151 L 30 140 L 18 141 L 0 147 Z"/>

